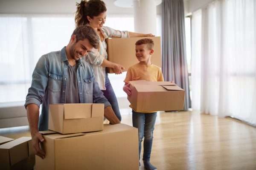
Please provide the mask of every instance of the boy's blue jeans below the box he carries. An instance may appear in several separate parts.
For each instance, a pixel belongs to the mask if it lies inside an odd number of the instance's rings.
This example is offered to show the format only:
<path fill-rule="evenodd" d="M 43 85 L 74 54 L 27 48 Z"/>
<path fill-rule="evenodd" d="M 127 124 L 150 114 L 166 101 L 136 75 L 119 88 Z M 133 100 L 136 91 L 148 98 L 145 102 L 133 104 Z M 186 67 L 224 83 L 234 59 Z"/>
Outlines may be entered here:
<path fill-rule="evenodd" d="M 141 142 L 144 137 L 143 144 L 143 161 L 150 161 L 151 148 L 153 144 L 153 131 L 156 122 L 157 112 L 154 113 L 138 113 L 132 111 L 133 127 L 138 128 L 139 135 L 139 159 L 141 151 Z"/>

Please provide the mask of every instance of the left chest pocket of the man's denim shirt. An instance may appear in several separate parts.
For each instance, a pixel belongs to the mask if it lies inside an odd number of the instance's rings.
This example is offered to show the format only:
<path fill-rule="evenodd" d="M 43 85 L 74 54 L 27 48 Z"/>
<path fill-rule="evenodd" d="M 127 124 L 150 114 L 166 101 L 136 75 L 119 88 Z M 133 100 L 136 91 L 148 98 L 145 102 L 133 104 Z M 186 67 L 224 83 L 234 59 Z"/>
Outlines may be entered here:
<path fill-rule="evenodd" d="M 62 88 L 62 75 L 49 73 L 48 90 L 52 93 L 60 93 Z"/>

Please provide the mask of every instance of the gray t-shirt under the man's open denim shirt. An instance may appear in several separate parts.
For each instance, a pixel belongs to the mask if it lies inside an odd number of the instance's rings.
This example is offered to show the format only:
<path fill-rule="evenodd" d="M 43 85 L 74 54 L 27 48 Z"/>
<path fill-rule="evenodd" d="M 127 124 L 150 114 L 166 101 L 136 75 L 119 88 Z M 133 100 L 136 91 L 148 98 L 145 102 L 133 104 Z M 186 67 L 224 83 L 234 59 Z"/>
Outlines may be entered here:
<path fill-rule="evenodd" d="M 73 67 L 71 65 L 68 65 L 66 103 L 80 103 L 76 70 L 77 70 L 77 62 Z"/>

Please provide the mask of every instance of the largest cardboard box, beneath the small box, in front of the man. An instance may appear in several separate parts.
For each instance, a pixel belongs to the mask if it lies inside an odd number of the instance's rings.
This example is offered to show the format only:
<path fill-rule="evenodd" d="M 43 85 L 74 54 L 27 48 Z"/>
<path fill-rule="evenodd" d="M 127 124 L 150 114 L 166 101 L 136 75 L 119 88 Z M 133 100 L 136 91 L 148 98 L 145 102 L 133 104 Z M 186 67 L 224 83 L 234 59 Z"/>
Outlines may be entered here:
<path fill-rule="evenodd" d="M 125 124 L 103 131 L 44 135 L 46 156 L 36 170 L 139 170 L 138 130 Z"/>

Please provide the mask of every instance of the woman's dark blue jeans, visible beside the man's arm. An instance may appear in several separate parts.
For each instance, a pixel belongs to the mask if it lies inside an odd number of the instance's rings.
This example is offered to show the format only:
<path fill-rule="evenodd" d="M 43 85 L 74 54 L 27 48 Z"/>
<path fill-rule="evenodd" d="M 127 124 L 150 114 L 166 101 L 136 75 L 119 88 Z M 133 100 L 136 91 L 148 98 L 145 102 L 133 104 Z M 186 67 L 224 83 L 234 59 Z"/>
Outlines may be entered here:
<path fill-rule="evenodd" d="M 103 95 L 108 99 L 108 102 L 111 104 L 112 106 L 112 109 L 116 115 L 116 117 L 120 120 L 121 122 L 121 114 L 120 114 L 120 111 L 119 111 L 119 106 L 118 106 L 118 102 L 117 102 L 117 99 L 116 99 L 116 94 L 112 88 L 112 85 L 110 83 L 110 80 L 108 78 L 108 73 L 106 72 L 106 77 L 105 77 L 105 87 L 106 87 L 106 90 L 102 90 L 103 92 Z"/>

